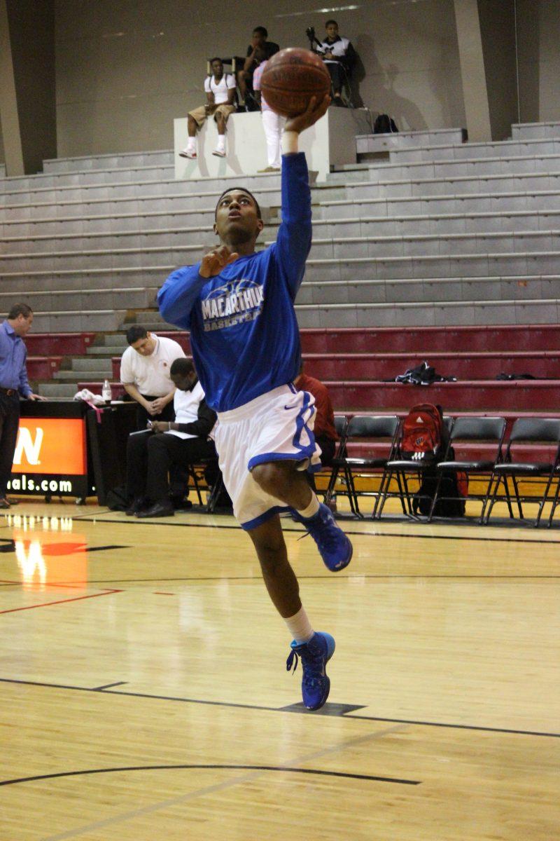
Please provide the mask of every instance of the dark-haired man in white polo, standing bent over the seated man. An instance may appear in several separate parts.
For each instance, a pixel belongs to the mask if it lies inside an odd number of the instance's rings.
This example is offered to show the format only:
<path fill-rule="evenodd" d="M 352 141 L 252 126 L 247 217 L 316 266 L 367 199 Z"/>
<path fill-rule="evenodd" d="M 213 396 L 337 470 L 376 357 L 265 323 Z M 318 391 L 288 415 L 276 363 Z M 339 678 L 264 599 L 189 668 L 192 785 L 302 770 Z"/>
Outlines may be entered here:
<path fill-rule="evenodd" d="M 121 383 L 136 400 L 136 428 L 145 429 L 146 421 L 172 421 L 175 386 L 170 368 L 175 359 L 185 357 L 181 345 L 165 336 L 156 336 L 140 325 L 127 331 L 128 347 L 121 359 Z"/>

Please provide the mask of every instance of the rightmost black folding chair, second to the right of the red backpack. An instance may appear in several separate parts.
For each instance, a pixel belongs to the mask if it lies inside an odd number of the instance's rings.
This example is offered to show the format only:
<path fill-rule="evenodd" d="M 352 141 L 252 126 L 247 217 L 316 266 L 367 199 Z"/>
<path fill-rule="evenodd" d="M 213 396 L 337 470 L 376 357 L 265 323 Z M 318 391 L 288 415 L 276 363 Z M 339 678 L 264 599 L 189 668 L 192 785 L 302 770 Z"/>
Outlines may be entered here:
<path fill-rule="evenodd" d="M 517 448 L 523 444 L 544 444 L 548 447 L 553 447 L 553 456 L 548 462 L 530 462 L 530 461 L 514 461 Z M 519 512 L 520 520 L 525 520 L 523 515 L 523 508 L 521 502 L 538 502 L 538 511 L 533 525 L 539 525 L 542 516 L 542 509 L 547 502 L 548 492 L 551 488 L 552 482 L 556 479 L 560 482 L 560 418 L 518 418 L 511 430 L 510 441 L 508 442 L 505 451 L 504 461 L 500 464 L 495 464 L 490 483 L 495 480 L 495 488 L 492 497 L 489 501 L 488 510 L 484 517 L 484 524 L 489 521 L 490 514 L 494 508 L 500 484 L 503 482 L 505 495 L 510 495 L 510 486 L 508 480 L 511 479 L 514 495 L 516 498 L 517 510 Z M 526 482 L 535 482 L 540 480 L 545 481 L 545 489 L 542 495 L 521 495 L 519 492 L 519 479 L 525 479 Z M 552 498 L 552 514 L 556 507 L 558 497 L 558 488 L 556 494 Z M 513 510 L 510 506 L 510 518 L 513 519 Z M 549 525 L 552 523 L 552 518 L 549 518 Z"/>

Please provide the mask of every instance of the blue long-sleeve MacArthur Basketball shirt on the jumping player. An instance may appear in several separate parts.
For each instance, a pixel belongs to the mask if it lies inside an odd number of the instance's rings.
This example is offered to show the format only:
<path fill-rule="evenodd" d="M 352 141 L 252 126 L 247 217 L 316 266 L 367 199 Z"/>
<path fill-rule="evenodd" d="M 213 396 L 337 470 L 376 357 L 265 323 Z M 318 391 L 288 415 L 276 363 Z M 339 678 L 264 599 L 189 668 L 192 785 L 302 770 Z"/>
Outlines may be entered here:
<path fill-rule="evenodd" d="M 214 278 L 200 262 L 170 274 L 160 313 L 191 331 L 196 373 L 207 404 L 236 409 L 290 383 L 301 361 L 294 309 L 311 248 L 311 191 L 303 152 L 282 159 L 282 223 L 275 243 L 239 257 Z"/>

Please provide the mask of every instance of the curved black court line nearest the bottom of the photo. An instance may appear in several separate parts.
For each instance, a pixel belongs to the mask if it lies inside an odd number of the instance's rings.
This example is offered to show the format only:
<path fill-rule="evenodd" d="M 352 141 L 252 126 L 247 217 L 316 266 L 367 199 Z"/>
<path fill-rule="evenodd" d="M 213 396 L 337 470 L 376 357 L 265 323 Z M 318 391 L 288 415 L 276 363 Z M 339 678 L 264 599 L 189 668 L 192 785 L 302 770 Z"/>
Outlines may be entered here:
<path fill-rule="evenodd" d="M 85 771 L 61 771 L 60 774 L 42 774 L 35 777 L 19 777 L 17 780 L 2 780 L 0 785 L 36 782 L 37 780 L 55 780 L 57 777 L 76 777 L 86 774 L 114 774 L 128 771 L 172 771 L 172 770 L 233 770 L 233 771 L 280 771 L 288 774 L 317 774 L 324 777 L 342 777 L 346 780 L 367 780 L 368 782 L 398 783 L 399 785 L 421 785 L 420 780 L 400 780 L 396 777 L 377 777 L 368 774 L 351 774 L 343 771 L 324 771 L 317 768 L 290 768 L 285 765 L 227 765 L 227 764 L 189 764 L 189 765 L 130 765 L 123 768 L 90 768 Z"/>

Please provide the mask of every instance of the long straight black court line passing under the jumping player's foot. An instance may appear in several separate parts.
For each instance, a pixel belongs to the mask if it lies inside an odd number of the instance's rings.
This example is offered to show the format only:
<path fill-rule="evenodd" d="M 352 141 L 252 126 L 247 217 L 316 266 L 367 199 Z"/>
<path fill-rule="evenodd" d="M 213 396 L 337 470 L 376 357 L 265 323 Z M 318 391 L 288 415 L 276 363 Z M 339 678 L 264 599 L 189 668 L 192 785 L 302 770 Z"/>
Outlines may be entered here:
<path fill-rule="evenodd" d="M 0 683 L 19 684 L 24 686 L 44 686 L 47 689 L 65 689 L 76 692 L 97 692 L 96 689 L 91 689 L 88 686 L 69 686 L 65 684 L 50 684 L 39 680 L 15 680 L 13 678 L 0 678 Z M 150 701 L 177 701 L 182 704 L 200 704 L 201 706 L 222 706 L 231 709 L 241 710 L 259 710 L 265 712 L 289 712 L 294 713 L 296 710 L 293 705 L 288 707 L 278 706 L 261 706 L 257 704 L 238 704 L 232 701 L 204 701 L 200 698 L 180 698 L 177 696 L 167 695 L 150 695 L 147 692 L 125 692 L 123 690 L 103 690 L 102 695 L 118 695 L 127 696 L 130 698 L 148 698 Z M 341 705 L 346 706 L 346 705 Z M 313 713 L 301 706 L 301 715 L 312 716 Z M 356 716 L 344 714 L 343 718 L 353 718 L 364 722 L 390 722 L 395 724 L 416 724 L 421 727 L 449 727 L 455 730 L 477 730 L 483 733 L 505 733 L 516 736 L 545 736 L 549 738 L 560 738 L 560 733 L 546 733 L 538 730 L 513 730 L 509 727 L 479 727 L 476 724 L 446 724 L 443 722 L 421 722 L 414 719 L 401 718 L 378 718 L 376 716 Z"/>

